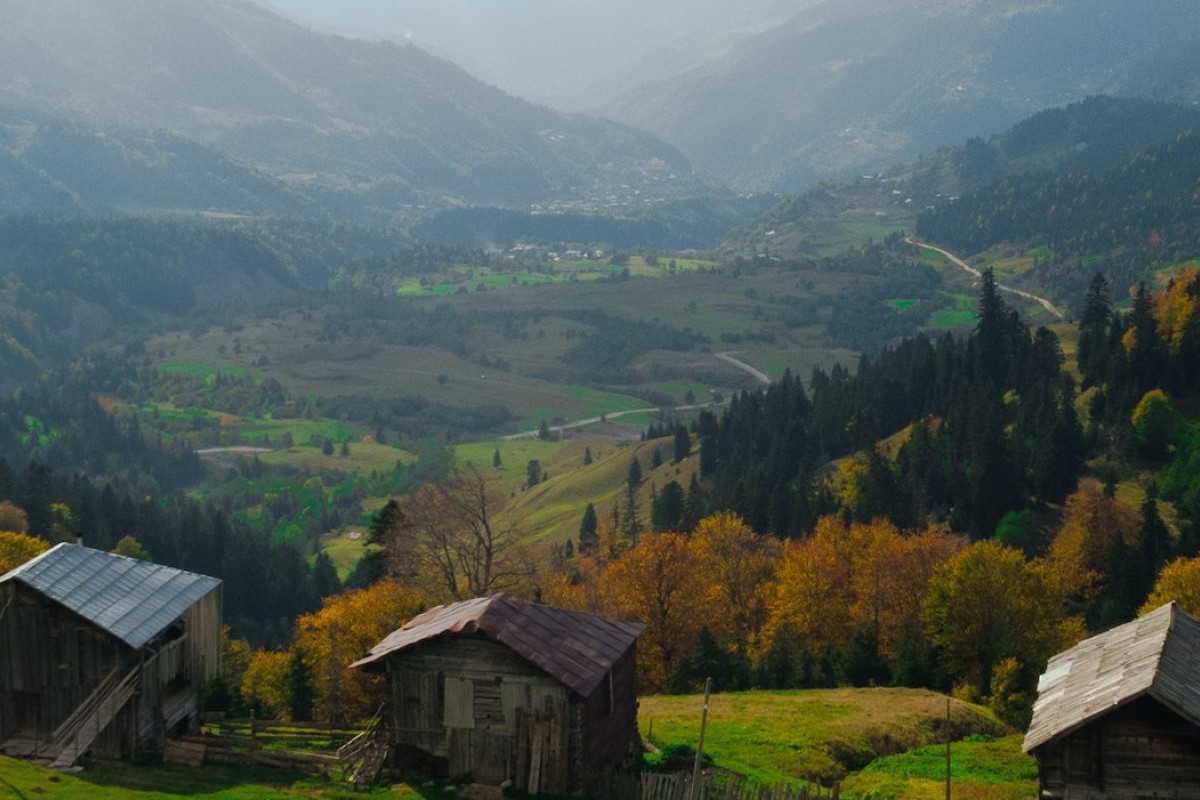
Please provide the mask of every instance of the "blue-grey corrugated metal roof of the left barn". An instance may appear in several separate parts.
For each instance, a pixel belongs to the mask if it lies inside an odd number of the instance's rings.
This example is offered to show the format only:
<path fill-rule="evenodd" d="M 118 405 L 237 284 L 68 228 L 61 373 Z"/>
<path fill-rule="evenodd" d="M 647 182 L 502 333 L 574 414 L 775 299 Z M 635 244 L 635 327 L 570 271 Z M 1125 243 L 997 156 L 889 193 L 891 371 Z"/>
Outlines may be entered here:
<path fill-rule="evenodd" d="M 46 595 L 131 648 L 140 648 L 221 585 L 216 578 L 58 545 L 5 576 Z"/>

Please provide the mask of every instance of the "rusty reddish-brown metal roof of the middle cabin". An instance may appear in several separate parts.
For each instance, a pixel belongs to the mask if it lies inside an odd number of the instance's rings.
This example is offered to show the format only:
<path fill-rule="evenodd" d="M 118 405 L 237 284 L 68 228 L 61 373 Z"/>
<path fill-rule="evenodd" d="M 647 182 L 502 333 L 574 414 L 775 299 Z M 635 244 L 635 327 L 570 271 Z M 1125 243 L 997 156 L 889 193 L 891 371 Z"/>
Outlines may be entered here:
<path fill-rule="evenodd" d="M 641 622 L 530 603 L 505 594 L 438 606 L 371 649 L 366 667 L 443 634 L 481 633 L 588 697 L 642 632 Z"/>

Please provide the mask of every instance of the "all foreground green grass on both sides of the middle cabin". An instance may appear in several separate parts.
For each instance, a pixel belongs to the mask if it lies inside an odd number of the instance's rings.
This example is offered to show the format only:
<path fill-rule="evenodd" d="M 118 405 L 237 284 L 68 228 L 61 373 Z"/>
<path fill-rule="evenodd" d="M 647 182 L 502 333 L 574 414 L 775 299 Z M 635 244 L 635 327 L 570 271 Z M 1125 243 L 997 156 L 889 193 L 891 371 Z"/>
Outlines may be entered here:
<path fill-rule="evenodd" d="M 695 748 L 702 698 L 641 698 L 642 738 L 660 752 Z M 924 690 L 836 688 L 714 694 L 704 752 L 714 769 L 775 786 L 835 783 L 847 800 L 935 800 L 944 796 L 946 696 Z M 952 702 L 954 796 L 1018 800 L 1037 792 L 1033 759 L 1021 738 L 974 705 Z M 649 763 L 660 757 L 647 756 Z M 367 793 L 319 776 L 265 766 L 97 762 L 77 775 L 0 757 L 0 800 L 443 800 L 444 783 L 382 784 Z"/>

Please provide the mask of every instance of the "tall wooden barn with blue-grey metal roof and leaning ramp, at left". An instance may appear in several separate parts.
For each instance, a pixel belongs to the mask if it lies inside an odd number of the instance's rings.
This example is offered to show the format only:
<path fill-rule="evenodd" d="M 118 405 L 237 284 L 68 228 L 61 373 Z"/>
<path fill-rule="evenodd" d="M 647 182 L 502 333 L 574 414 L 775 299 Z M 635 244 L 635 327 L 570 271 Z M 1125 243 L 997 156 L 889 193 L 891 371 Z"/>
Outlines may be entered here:
<path fill-rule="evenodd" d="M 0 576 L 0 748 L 157 750 L 221 674 L 221 582 L 78 545 Z"/>

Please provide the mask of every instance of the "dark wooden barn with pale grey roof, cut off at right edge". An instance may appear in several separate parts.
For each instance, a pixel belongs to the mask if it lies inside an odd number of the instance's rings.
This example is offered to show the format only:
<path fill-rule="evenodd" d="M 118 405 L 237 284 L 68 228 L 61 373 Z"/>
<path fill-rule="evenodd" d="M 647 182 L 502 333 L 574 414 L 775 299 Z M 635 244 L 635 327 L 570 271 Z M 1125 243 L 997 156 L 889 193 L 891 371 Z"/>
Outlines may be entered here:
<path fill-rule="evenodd" d="M 1043 798 L 1200 800 L 1200 621 L 1170 603 L 1051 658 L 1025 751 Z"/>

